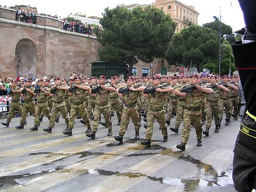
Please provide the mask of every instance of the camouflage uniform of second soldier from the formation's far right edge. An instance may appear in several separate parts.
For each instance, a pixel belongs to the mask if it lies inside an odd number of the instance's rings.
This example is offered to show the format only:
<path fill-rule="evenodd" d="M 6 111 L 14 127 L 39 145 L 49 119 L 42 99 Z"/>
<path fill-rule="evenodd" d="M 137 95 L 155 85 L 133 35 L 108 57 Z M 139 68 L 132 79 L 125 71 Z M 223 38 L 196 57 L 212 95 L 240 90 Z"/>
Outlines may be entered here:
<path fill-rule="evenodd" d="M 228 87 L 229 90 L 231 88 Z M 225 92 L 223 90 L 220 90 L 220 109 L 219 109 L 219 121 L 222 121 L 223 118 L 223 110 L 225 107 L 226 111 L 226 121 L 230 120 L 231 117 L 231 100 L 230 100 L 230 92 Z"/>

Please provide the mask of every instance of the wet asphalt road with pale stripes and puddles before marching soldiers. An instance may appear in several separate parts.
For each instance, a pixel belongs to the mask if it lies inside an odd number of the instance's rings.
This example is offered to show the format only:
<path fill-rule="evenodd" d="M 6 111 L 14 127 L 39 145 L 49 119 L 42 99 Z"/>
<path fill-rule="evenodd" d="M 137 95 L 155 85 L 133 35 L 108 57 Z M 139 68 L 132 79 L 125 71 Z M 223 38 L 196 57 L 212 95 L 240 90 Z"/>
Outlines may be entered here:
<path fill-rule="evenodd" d="M 86 126 L 80 120 L 69 137 L 62 134 L 66 128 L 62 118 L 51 134 L 42 131 L 48 126 L 46 117 L 39 131 L 29 131 L 33 119 L 28 117 L 24 130 L 14 129 L 19 118 L 13 118 L 8 128 L 0 125 L 1 191 L 236 191 L 232 150 L 239 121 L 231 119 L 229 126 L 222 122 L 219 133 L 214 133 L 212 125 L 202 147 L 196 146 L 191 127 L 186 151 L 180 152 L 176 145 L 181 133 L 174 134 L 168 126 L 168 142 L 163 143 L 157 122 L 152 146 L 146 147 L 140 144 L 146 133 L 144 121 L 141 139 L 133 139 L 130 122 L 119 144 L 114 139 L 119 130 L 116 116 L 113 136 L 107 137 L 108 130 L 99 124 L 94 140 L 85 135 Z"/>

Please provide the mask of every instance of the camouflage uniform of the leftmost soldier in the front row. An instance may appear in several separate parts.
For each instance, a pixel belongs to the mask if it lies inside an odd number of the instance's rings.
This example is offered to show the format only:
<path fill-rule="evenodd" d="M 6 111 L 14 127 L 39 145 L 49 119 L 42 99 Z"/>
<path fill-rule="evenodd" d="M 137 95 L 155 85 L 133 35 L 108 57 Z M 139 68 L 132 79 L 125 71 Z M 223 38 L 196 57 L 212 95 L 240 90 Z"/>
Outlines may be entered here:
<path fill-rule="evenodd" d="M 15 88 L 12 88 L 12 90 L 20 90 L 20 87 L 16 86 Z M 11 92 L 10 96 L 12 97 L 12 100 L 11 100 L 9 114 L 7 116 L 7 123 L 11 122 L 12 118 L 15 115 L 15 111 L 17 111 L 19 115 L 22 115 L 22 105 L 20 104 L 20 101 L 19 101 L 20 93 Z"/>

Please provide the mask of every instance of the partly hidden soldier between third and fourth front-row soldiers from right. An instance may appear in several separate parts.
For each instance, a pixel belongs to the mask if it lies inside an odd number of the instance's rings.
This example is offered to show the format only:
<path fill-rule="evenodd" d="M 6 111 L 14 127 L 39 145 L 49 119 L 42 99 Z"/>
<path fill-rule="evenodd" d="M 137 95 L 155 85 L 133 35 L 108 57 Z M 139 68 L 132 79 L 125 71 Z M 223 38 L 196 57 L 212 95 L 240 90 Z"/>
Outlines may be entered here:
<path fill-rule="evenodd" d="M 111 77 L 110 82 L 111 85 L 115 83 L 116 78 Z M 114 114 L 114 111 L 116 111 L 117 118 L 118 118 L 118 123 L 117 125 L 121 124 L 121 110 L 122 110 L 122 103 L 121 100 L 116 92 L 110 92 L 110 109 L 111 109 L 111 114 Z"/>

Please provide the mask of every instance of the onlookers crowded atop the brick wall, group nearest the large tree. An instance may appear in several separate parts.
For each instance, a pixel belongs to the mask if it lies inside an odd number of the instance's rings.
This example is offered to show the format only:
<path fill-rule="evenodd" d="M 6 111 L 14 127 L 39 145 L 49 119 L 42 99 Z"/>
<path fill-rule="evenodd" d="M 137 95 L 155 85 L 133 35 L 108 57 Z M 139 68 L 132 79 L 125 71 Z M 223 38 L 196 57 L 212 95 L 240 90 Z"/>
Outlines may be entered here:
<path fill-rule="evenodd" d="M 91 35 L 93 26 L 64 19 L 63 30 Z"/>

